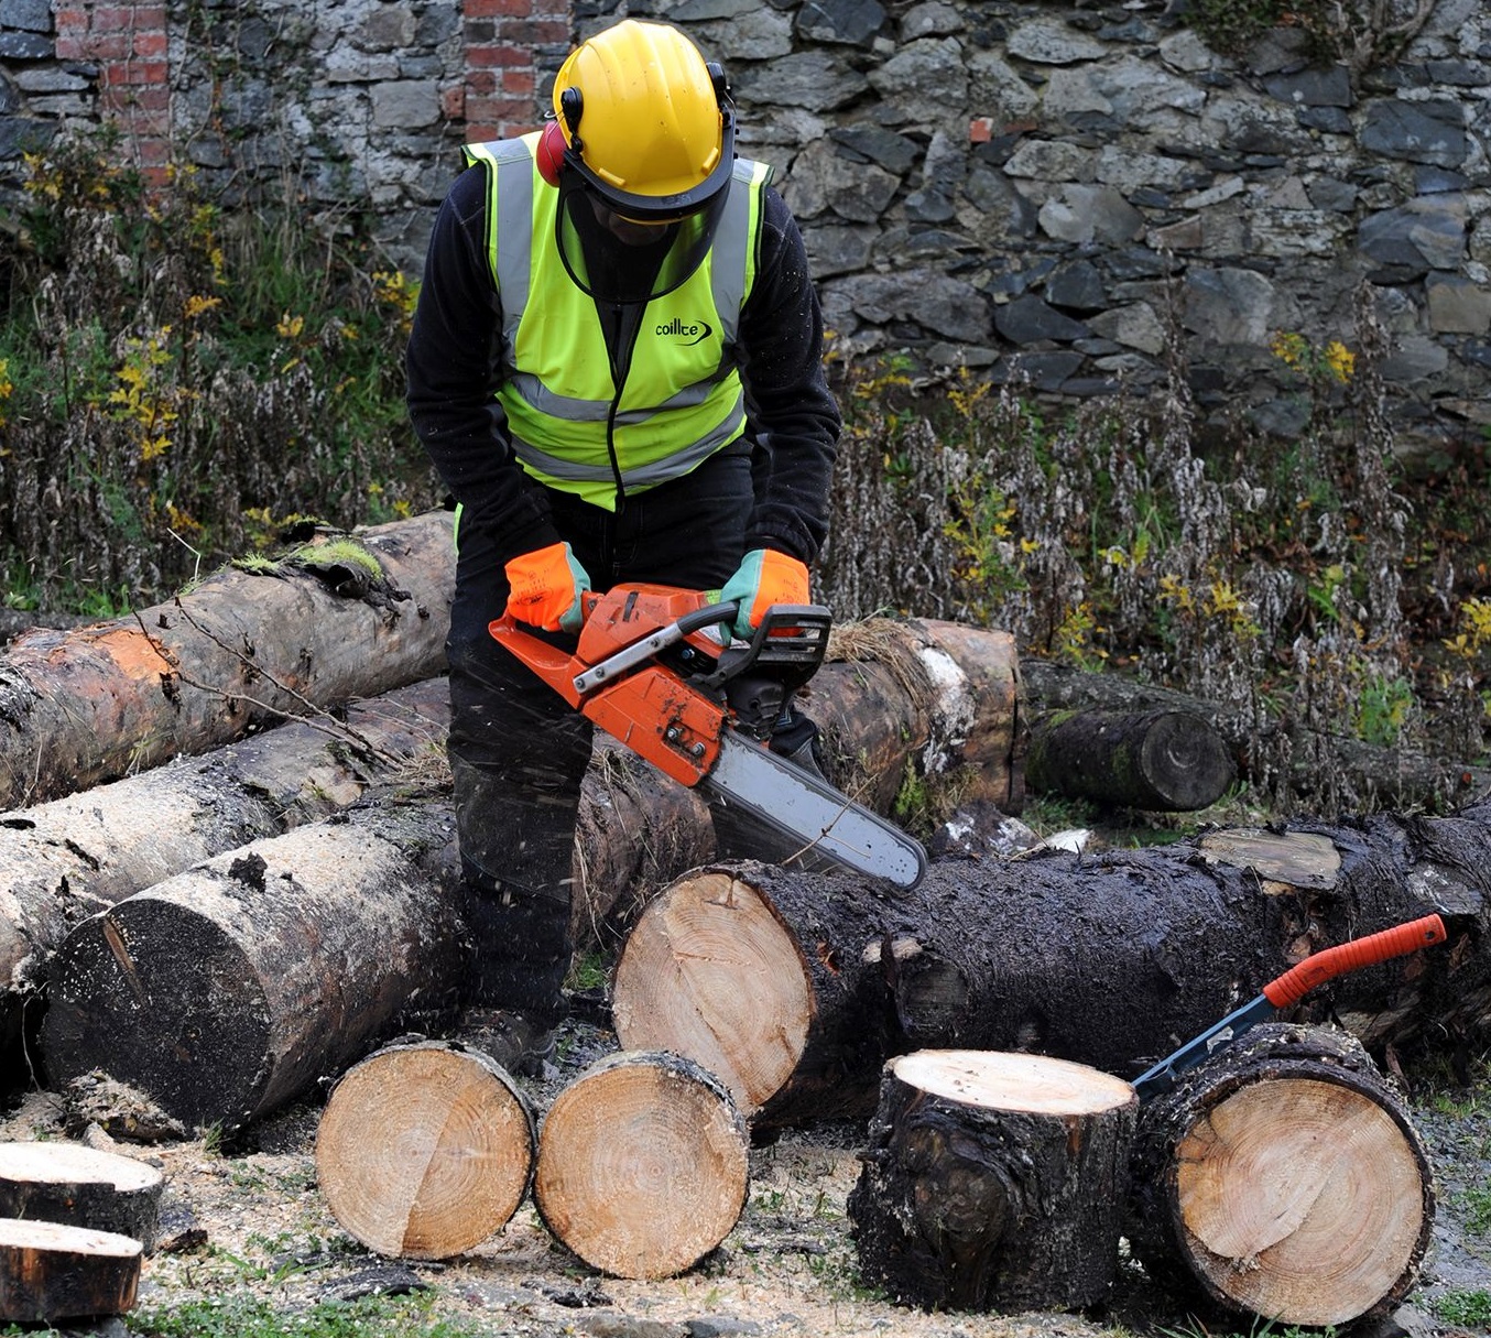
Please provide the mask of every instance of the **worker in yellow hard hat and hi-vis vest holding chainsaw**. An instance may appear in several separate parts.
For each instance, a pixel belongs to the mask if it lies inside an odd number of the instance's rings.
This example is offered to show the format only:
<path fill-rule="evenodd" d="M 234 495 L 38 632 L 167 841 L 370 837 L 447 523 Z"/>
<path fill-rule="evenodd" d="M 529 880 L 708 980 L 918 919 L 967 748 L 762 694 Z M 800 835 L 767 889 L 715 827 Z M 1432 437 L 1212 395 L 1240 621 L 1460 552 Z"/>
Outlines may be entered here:
<path fill-rule="evenodd" d="M 568 1016 L 590 725 L 489 624 L 573 646 L 584 591 L 653 582 L 738 600 L 747 637 L 810 603 L 828 530 L 841 419 L 819 301 L 735 134 L 723 70 L 625 19 L 568 55 L 541 130 L 467 146 L 429 240 L 409 413 L 458 504 L 459 1032 L 514 1072 L 541 1071 Z M 772 747 L 801 758 L 792 723 Z"/>

